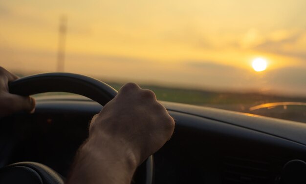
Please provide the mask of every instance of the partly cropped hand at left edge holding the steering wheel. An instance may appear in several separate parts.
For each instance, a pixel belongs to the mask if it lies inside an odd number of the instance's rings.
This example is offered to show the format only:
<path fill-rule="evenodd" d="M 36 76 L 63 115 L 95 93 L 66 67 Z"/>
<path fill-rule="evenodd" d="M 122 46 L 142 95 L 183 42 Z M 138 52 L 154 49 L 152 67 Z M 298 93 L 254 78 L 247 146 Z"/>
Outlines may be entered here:
<path fill-rule="evenodd" d="M 18 111 L 33 113 L 35 110 L 33 98 L 9 93 L 8 82 L 16 79 L 17 76 L 0 67 L 0 118 Z"/>

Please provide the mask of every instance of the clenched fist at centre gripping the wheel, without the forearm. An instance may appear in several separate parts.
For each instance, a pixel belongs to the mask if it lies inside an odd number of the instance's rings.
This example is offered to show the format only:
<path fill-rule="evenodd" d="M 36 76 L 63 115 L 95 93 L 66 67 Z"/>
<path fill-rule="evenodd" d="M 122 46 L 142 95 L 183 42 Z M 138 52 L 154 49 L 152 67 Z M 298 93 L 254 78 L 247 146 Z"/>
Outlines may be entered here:
<path fill-rule="evenodd" d="M 171 138 L 174 126 L 173 118 L 151 90 L 127 83 L 93 117 L 89 140 L 117 143 L 118 150 L 132 154 L 141 164 Z"/>

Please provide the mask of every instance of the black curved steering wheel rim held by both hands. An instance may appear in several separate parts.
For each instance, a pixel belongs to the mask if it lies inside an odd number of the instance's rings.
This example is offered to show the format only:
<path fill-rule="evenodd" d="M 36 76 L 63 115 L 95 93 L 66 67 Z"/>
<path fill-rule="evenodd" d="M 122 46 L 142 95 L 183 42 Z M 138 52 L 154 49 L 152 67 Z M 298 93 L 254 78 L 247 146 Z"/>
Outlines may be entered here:
<path fill-rule="evenodd" d="M 103 106 L 117 94 L 114 88 L 104 82 L 72 73 L 45 73 L 23 77 L 10 82 L 9 91 L 22 96 L 44 92 L 69 92 L 83 95 Z M 139 183 L 153 183 L 152 155 L 138 167 L 136 174 Z"/>

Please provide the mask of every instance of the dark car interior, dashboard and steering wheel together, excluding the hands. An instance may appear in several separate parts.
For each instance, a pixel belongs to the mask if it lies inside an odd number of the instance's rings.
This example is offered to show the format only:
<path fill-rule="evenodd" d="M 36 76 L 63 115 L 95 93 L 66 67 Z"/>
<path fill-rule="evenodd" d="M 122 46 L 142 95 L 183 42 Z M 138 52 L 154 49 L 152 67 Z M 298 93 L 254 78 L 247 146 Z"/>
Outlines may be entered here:
<path fill-rule="evenodd" d="M 94 90 L 78 91 L 76 85 L 100 87 L 100 92 L 88 94 Z M 40 169 L 47 166 L 44 171 L 35 171 L 43 184 L 64 182 L 77 149 L 87 139 L 89 121 L 115 91 L 95 79 L 63 73 L 21 78 L 10 84 L 10 90 L 23 95 L 51 91 L 79 94 L 37 97 L 34 114 L 17 113 L 0 123 L 1 184 L 1 179 L 12 184 L 16 178 L 25 181 L 23 175 L 13 173 L 7 178 L 5 172 L 27 164 Z M 146 161 L 137 169 L 132 183 L 305 183 L 305 123 L 174 102 L 162 104 L 175 119 L 175 132 L 150 164 Z M 48 177 L 55 177 L 44 180 L 45 170 Z"/>

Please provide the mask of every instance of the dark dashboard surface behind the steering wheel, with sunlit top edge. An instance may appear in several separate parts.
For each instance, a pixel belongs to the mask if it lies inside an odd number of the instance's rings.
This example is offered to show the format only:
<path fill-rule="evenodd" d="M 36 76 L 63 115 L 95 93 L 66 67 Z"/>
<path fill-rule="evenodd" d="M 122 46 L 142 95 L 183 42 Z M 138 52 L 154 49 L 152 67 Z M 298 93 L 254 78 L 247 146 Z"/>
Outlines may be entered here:
<path fill-rule="evenodd" d="M 277 182 L 285 163 L 306 160 L 305 142 L 300 139 L 304 134 L 296 140 L 288 134 L 295 126 L 287 132 L 278 127 L 276 134 L 254 125 L 255 119 L 262 124 L 277 122 L 274 119 L 164 104 L 176 127 L 172 139 L 154 154 L 156 184 L 270 184 Z M 91 117 L 101 108 L 86 99 L 41 99 L 35 114 L 2 119 L 1 166 L 35 161 L 66 176 L 87 138 Z"/>

